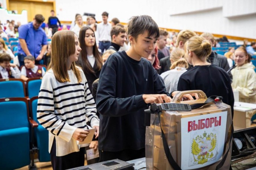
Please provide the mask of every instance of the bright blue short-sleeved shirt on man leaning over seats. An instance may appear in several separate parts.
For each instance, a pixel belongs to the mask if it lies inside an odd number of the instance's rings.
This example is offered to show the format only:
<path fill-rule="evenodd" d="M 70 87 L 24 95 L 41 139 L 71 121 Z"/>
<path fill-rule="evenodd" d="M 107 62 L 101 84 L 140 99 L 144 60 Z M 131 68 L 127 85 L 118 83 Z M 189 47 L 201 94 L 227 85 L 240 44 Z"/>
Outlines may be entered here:
<path fill-rule="evenodd" d="M 41 27 L 35 30 L 32 22 L 20 26 L 18 30 L 19 39 L 26 41 L 27 49 L 29 49 L 30 54 L 36 58 L 40 54 L 42 46 L 47 44 L 45 31 Z M 18 53 L 26 56 L 26 53 L 20 46 L 20 42 L 18 44 Z"/>

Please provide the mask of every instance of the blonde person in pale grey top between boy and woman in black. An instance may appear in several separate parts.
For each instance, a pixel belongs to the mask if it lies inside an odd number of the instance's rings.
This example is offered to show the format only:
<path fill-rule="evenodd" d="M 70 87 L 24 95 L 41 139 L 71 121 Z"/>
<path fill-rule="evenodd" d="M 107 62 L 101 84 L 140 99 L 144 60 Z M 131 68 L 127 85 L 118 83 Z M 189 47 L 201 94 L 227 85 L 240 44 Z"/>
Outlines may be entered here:
<path fill-rule="evenodd" d="M 188 63 L 184 59 L 185 51 L 183 49 L 175 49 L 171 52 L 170 60 L 171 67 L 169 71 L 165 71 L 161 74 L 164 80 L 164 85 L 166 91 L 171 93 L 171 91 L 176 91 L 178 86 L 178 81 L 181 74 L 185 73 L 188 68 Z"/>

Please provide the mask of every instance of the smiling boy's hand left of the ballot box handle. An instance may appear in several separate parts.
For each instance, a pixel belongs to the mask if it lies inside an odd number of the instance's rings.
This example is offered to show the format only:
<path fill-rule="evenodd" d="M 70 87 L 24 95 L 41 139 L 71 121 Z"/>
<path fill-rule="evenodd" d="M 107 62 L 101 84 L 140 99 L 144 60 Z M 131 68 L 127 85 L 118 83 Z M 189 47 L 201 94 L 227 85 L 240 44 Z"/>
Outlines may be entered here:
<path fill-rule="evenodd" d="M 143 94 L 143 100 L 145 103 L 168 103 L 171 101 L 171 97 L 167 96 L 166 94 Z"/>

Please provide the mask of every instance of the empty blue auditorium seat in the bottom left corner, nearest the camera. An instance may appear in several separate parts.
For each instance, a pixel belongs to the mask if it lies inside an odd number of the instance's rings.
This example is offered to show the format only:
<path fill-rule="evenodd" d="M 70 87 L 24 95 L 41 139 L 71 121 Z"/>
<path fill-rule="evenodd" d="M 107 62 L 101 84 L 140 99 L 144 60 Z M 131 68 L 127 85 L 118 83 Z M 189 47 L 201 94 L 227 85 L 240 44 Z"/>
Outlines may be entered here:
<path fill-rule="evenodd" d="M 30 125 L 26 98 L 0 99 L 0 169 L 30 164 Z"/>

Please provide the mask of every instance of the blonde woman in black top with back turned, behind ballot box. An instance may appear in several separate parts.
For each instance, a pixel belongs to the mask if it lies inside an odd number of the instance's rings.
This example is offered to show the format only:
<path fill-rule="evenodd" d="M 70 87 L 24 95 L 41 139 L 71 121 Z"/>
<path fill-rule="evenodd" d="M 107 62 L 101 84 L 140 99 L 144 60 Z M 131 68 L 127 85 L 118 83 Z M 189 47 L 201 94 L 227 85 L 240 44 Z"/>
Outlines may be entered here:
<path fill-rule="evenodd" d="M 229 74 L 207 62 L 211 54 L 210 42 L 194 36 L 187 41 L 186 53 L 188 63 L 194 67 L 180 76 L 178 91 L 202 90 L 207 97 L 222 96 L 223 102 L 231 106 L 233 115 L 234 96 Z"/>

